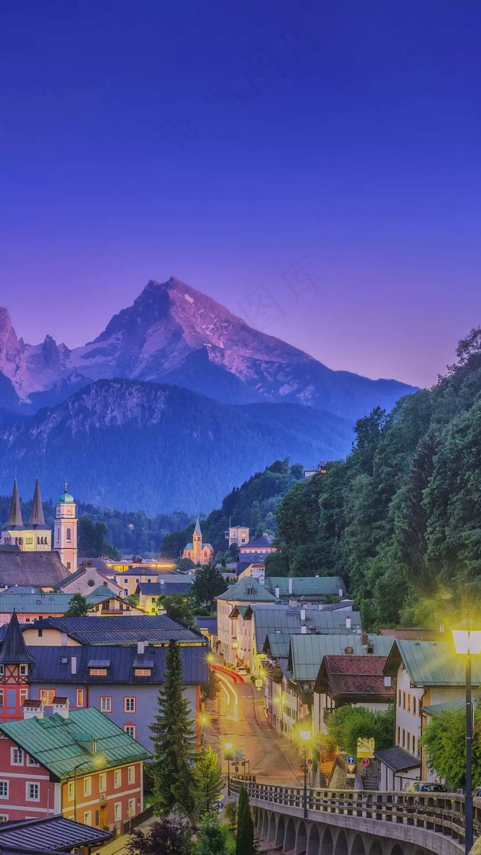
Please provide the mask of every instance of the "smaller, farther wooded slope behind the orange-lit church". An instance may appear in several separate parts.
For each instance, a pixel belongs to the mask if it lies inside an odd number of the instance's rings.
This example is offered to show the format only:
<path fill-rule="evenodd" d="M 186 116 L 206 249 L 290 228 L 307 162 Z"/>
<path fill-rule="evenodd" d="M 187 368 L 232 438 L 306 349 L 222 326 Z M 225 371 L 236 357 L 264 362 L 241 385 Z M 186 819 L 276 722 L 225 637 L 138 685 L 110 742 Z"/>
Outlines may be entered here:
<path fill-rule="evenodd" d="M 244 481 L 240 487 L 234 487 L 221 507 L 213 510 L 202 520 L 202 539 L 211 543 L 214 551 L 226 551 L 226 529 L 229 520 L 233 526 L 249 526 L 250 538 L 256 534 L 267 532 L 277 534 L 275 511 L 279 502 L 292 486 L 303 480 L 304 471 L 300 463 L 290 466 L 289 457 L 276 460 L 272 466 L 267 466 L 263 472 L 257 472 Z M 177 558 L 185 544 L 192 540 L 193 525 L 183 531 L 167 534 L 161 548 L 161 555 Z"/>

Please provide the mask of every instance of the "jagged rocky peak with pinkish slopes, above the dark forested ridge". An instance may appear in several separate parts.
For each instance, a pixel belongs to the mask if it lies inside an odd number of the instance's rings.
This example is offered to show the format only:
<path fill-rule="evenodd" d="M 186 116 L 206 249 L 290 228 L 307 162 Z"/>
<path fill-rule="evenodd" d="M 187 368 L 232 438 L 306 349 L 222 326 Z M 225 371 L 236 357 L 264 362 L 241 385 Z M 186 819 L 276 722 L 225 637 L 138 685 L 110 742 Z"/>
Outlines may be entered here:
<path fill-rule="evenodd" d="M 12 410 L 15 401 L 34 412 L 114 377 L 175 383 L 228 404 L 308 404 L 351 420 L 414 391 L 332 371 L 175 278 L 150 280 L 97 339 L 72 351 L 50 336 L 25 344 L 0 310 L 0 408 Z"/>

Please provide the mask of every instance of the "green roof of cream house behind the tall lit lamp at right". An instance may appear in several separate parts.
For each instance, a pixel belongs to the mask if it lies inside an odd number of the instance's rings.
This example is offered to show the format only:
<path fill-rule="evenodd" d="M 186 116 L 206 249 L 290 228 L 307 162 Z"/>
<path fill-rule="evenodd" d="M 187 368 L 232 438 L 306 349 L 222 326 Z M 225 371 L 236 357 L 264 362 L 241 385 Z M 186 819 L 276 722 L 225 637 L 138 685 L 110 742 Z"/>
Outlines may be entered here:
<path fill-rule="evenodd" d="M 401 662 L 413 686 L 465 686 L 465 660 L 456 654 L 452 642 L 397 639 L 386 671 L 394 673 Z M 472 657 L 472 684 L 480 683 L 481 662 Z"/>

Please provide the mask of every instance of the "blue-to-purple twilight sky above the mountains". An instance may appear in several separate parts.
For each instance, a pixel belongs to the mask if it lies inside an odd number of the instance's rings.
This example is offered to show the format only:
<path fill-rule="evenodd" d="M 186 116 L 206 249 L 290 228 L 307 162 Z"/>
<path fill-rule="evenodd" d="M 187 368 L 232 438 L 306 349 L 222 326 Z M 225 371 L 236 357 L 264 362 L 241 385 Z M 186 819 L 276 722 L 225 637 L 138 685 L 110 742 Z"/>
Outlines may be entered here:
<path fill-rule="evenodd" d="M 84 344 L 176 275 L 331 368 L 426 385 L 481 323 L 476 0 L 0 16 L 0 304 L 19 336 Z"/>

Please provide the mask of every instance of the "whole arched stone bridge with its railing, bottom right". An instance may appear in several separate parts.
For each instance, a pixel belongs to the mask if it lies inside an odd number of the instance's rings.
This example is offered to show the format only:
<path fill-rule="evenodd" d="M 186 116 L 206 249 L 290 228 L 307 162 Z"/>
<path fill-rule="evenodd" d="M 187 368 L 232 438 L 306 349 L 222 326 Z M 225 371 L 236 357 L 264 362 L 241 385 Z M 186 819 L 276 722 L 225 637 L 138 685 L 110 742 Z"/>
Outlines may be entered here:
<path fill-rule="evenodd" d="M 451 793 L 376 793 L 275 787 L 232 779 L 246 787 L 259 834 L 290 855 L 462 855 L 464 797 Z M 481 799 L 474 799 L 474 836 L 481 834 Z"/>

